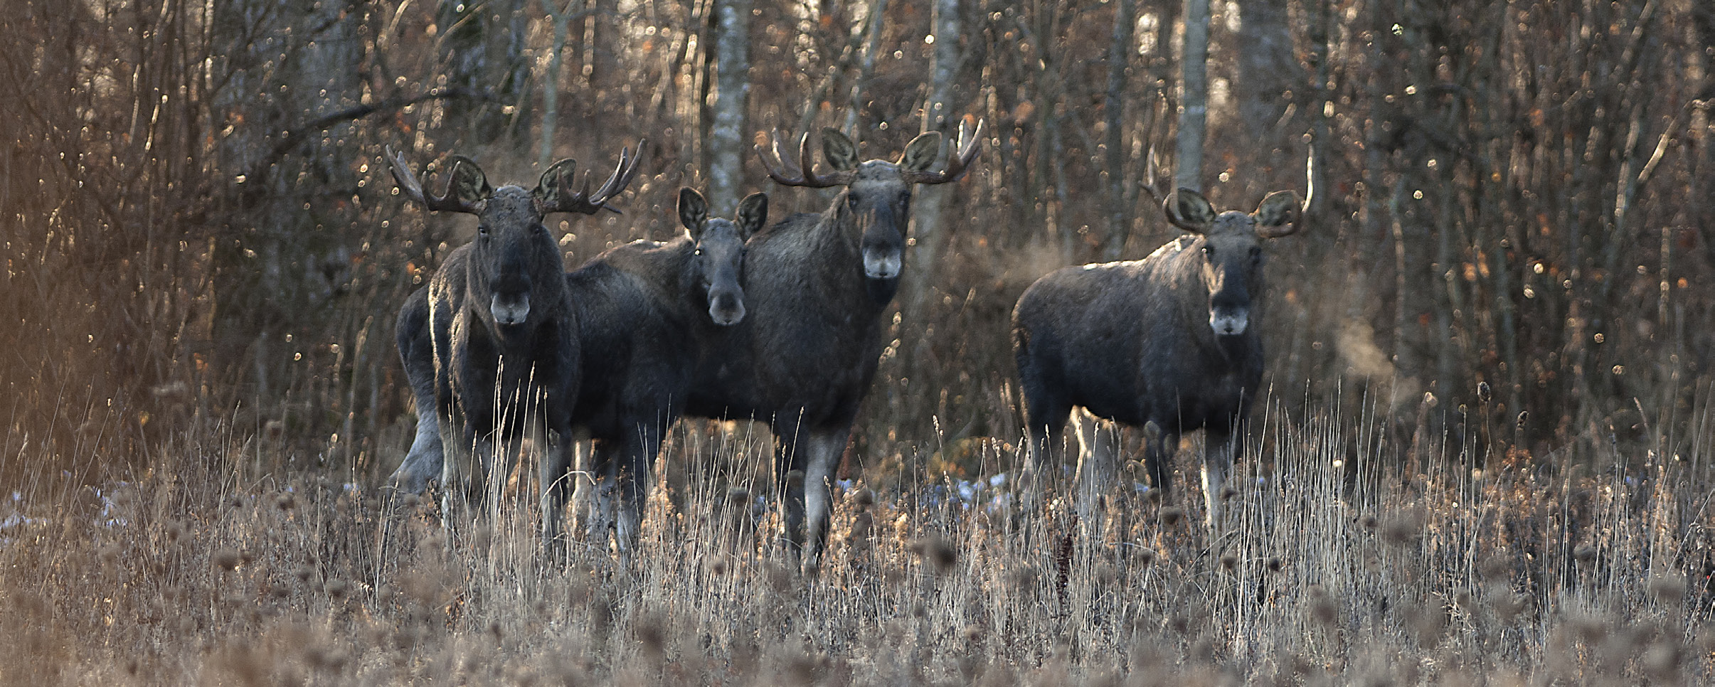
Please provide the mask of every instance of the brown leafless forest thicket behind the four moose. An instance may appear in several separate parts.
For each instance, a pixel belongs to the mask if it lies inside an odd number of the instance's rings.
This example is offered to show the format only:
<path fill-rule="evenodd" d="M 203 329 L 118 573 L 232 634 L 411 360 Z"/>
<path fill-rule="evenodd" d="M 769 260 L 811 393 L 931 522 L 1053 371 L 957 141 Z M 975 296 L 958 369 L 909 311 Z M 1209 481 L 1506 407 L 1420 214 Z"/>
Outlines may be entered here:
<path fill-rule="evenodd" d="M 568 266 L 667 238 L 676 188 L 720 171 L 715 5 L 9 3 L 0 464 L 29 469 L 0 480 L 93 478 L 216 428 L 233 461 L 379 483 L 413 421 L 393 315 L 470 231 L 406 209 L 382 147 L 533 183 L 554 7 L 554 156 L 611 168 L 648 140 L 626 214 L 564 224 Z M 1015 440 L 1017 295 L 1175 235 L 1152 194 L 1175 170 L 1178 0 L 936 5 L 957 26 L 933 43 L 926 2 L 737 5 L 746 144 L 832 125 L 892 158 L 988 122 L 974 171 L 919 190 L 942 230 L 907 252 L 858 428 L 871 466 Z M 1214 2 L 1206 194 L 1250 209 L 1307 192 L 1307 161 L 1319 176 L 1307 230 L 1273 247 L 1273 403 L 1573 459 L 1681 435 L 1715 363 L 1712 46 L 1698 0 Z M 736 192 L 777 216 L 823 206 L 743 159 Z"/>

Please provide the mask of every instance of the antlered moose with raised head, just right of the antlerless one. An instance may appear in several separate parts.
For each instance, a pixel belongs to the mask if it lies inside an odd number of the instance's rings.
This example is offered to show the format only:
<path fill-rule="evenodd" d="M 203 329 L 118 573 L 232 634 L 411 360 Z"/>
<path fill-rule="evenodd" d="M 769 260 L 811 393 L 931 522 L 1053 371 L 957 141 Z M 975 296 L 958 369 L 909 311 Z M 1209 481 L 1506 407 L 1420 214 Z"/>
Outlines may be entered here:
<path fill-rule="evenodd" d="M 785 507 L 782 541 L 815 572 L 828 538 L 833 468 L 882 353 L 882 312 L 904 264 L 911 190 L 947 183 L 976 158 L 976 132 L 959 127 L 947 164 L 931 171 L 942 134 L 912 139 L 899 161 L 859 163 L 858 146 L 825 128 L 830 173 L 811 168 L 809 135 L 789 161 L 780 139 L 756 156 L 789 187 L 844 187 L 820 214 L 799 212 L 748 243 L 744 326 L 722 331 L 696 370 L 686 415 L 760 420 L 775 437 L 775 492 Z"/>

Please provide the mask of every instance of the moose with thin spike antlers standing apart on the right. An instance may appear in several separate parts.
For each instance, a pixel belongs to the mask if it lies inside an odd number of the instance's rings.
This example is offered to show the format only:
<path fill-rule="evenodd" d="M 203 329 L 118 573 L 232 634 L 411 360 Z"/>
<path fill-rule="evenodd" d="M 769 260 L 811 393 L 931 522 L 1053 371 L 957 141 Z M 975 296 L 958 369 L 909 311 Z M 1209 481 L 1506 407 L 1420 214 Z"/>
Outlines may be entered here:
<path fill-rule="evenodd" d="M 1166 493 L 1168 459 L 1180 433 L 1200 428 L 1204 505 L 1216 526 L 1221 483 L 1242 454 L 1242 423 L 1262 379 L 1255 327 L 1264 288 L 1261 240 L 1295 233 L 1300 200 L 1279 190 L 1255 212 L 1216 214 L 1207 199 L 1180 188 L 1163 209 L 1190 233 L 1142 260 L 1063 267 L 1019 296 L 1012 338 L 1024 391 L 1027 473 L 1060 463 L 1062 433 L 1079 406 L 1144 427 L 1149 480 Z M 1103 461 L 1084 432 L 1079 439 L 1080 463 Z M 1084 464 L 1079 478 L 1091 478 Z M 1027 488 L 1041 488 L 1027 481 Z"/>

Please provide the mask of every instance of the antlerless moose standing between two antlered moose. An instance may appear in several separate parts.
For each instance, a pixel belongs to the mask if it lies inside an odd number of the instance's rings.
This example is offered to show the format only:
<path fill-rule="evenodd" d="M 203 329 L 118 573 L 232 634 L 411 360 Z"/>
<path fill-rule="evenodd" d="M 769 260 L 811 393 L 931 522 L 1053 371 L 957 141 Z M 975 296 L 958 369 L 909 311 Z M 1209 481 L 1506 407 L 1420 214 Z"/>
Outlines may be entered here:
<path fill-rule="evenodd" d="M 605 543 L 612 531 L 621 553 L 633 548 L 650 463 L 684 408 L 707 341 L 746 315 L 739 281 L 744 242 L 767 221 L 765 194 L 751 194 L 732 219 L 722 219 L 708 216 L 701 194 L 681 188 L 679 238 L 631 242 L 566 274 L 566 290 L 576 295 L 583 355 L 573 423 L 593 440 L 595 499 L 587 504 L 592 541 Z M 544 473 L 544 507 L 556 514 L 566 504 L 569 468 L 552 466 L 556 480 Z"/>

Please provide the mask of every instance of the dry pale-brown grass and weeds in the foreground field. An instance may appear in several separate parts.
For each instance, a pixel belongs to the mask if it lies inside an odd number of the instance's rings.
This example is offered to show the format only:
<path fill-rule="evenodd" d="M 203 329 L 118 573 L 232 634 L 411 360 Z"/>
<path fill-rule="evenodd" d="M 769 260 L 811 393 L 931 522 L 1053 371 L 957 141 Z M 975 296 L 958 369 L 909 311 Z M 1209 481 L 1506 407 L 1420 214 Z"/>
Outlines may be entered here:
<path fill-rule="evenodd" d="M 767 439 L 744 427 L 676 430 L 631 565 L 575 547 L 564 567 L 537 555 L 527 505 L 448 545 L 429 500 L 388 504 L 285 466 L 257 475 L 257 439 L 211 427 L 99 490 L 41 475 L 0 500 L 0 682 L 1715 675 L 1706 427 L 1664 442 L 1691 447 L 1667 461 L 1502 457 L 1477 473 L 1447 457 L 1458 445 L 1367 451 L 1372 425 L 1267 413 L 1235 478 L 1247 487 L 1230 499 L 1233 528 L 1213 543 L 1200 499 L 1183 495 L 1113 493 L 1101 519 L 1050 505 L 1015 526 L 990 507 L 995 488 L 964 499 L 971 485 L 921 471 L 880 492 L 847 485 L 816 579 L 758 543 L 772 516 L 749 495 L 767 500 L 753 480 Z M 962 451 L 984 475 L 1017 461 L 1000 442 Z"/>

